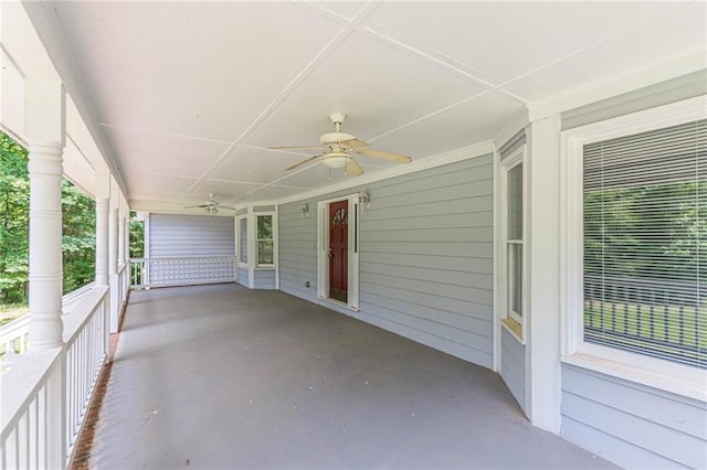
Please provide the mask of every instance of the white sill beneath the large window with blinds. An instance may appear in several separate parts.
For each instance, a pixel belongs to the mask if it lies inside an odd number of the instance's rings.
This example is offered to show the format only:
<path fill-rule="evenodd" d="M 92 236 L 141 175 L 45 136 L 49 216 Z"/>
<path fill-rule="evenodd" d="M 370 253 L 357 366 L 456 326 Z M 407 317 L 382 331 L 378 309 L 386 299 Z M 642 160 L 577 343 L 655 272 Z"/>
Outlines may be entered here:
<path fill-rule="evenodd" d="M 707 402 L 707 371 L 682 364 L 642 357 L 624 351 L 602 351 L 588 345 L 588 351 L 562 356 L 562 363 L 634 382 L 687 398 Z M 608 357 L 611 355 L 611 357 Z M 661 363 L 654 367 L 655 363 Z"/>

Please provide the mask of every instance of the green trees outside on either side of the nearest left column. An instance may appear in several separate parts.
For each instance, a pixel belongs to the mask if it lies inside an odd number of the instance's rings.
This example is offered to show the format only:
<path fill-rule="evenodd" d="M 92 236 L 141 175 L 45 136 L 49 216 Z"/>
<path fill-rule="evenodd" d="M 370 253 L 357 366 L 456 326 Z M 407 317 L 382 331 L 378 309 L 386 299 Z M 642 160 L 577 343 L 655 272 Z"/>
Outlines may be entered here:
<path fill-rule="evenodd" d="M 0 303 L 25 303 L 29 273 L 28 151 L 0 132 Z M 91 282 L 95 271 L 95 203 L 62 181 L 64 293 Z"/>

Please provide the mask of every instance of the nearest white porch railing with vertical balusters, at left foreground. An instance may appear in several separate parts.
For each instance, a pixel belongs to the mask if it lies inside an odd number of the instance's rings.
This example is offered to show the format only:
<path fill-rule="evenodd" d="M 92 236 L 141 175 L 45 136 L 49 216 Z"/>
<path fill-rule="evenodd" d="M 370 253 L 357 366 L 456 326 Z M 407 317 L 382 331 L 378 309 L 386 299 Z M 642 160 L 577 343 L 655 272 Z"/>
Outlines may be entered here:
<path fill-rule="evenodd" d="M 0 468 L 65 468 L 108 353 L 109 296 L 94 287 L 64 317 L 64 344 L 0 376 Z"/>

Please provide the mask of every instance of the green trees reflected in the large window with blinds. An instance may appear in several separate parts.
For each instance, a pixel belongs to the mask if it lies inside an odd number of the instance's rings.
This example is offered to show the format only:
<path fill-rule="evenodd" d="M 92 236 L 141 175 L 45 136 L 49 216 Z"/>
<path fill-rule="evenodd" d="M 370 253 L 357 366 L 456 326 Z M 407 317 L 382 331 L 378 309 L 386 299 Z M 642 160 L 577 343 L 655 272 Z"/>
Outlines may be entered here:
<path fill-rule="evenodd" d="M 707 181 L 584 194 L 584 269 L 631 278 L 707 273 Z M 603 261 L 603 264 L 602 264 Z"/>

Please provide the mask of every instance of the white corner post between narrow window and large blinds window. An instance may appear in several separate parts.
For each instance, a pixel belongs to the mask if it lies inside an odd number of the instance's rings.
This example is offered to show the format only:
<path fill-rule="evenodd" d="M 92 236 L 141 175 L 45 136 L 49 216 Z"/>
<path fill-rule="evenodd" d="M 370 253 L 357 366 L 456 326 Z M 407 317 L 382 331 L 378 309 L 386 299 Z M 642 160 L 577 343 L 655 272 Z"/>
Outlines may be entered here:
<path fill-rule="evenodd" d="M 560 118 L 530 126 L 527 159 L 529 306 L 526 408 L 534 425 L 560 431 Z"/>

